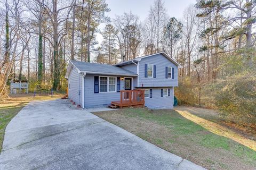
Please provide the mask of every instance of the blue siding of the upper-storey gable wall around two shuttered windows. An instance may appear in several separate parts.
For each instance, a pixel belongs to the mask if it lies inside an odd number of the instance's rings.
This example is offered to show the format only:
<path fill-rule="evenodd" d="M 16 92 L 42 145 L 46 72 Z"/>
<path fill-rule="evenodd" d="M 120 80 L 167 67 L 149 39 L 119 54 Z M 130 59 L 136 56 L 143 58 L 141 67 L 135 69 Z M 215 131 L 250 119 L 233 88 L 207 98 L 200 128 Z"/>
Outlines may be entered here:
<path fill-rule="evenodd" d="M 156 65 L 156 78 L 145 78 L 145 64 Z M 174 68 L 174 79 L 165 78 L 165 67 Z M 138 87 L 177 87 L 178 66 L 173 64 L 162 54 L 142 58 L 139 62 L 139 86 Z"/>

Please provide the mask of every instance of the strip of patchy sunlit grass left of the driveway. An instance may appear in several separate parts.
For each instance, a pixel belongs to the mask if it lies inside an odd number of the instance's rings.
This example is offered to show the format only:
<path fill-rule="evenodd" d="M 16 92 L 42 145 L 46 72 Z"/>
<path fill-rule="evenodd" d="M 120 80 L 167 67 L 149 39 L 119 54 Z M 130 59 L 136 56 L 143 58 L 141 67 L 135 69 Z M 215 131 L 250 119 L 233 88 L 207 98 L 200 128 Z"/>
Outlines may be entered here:
<path fill-rule="evenodd" d="M 4 131 L 7 124 L 17 113 L 26 106 L 29 101 L 34 100 L 53 100 L 62 97 L 63 95 L 51 96 L 35 96 L 33 94 L 16 94 L 10 95 L 10 98 L 0 100 L 0 152 L 2 150 Z"/>

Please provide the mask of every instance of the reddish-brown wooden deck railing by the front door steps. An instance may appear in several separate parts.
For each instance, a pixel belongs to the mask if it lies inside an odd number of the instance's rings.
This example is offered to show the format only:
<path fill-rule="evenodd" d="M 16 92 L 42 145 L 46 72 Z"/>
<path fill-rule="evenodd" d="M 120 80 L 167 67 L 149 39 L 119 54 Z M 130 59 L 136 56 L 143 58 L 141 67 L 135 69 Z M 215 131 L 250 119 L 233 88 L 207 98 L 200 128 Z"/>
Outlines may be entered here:
<path fill-rule="evenodd" d="M 145 104 L 145 90 L 121 90 L 120 91 L 120 107 L 144 105 Z"/>

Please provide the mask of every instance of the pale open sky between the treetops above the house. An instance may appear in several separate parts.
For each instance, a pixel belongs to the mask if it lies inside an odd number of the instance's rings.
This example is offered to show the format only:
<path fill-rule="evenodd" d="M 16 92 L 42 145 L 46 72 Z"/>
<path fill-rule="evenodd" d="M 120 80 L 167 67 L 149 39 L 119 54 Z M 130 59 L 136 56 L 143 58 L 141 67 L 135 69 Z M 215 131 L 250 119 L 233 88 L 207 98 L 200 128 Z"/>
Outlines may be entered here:
<path fill-rule="evenodd" d="M 167 10 L 167 14 L 170 17 L 175 17 L 181 19 L 183 12 L 187 6 L 190 4 L 195 4 L 196 0 L 162 0 L 164 6 Z M 140 21 L 146 19 L 150 6 L 154 4 L 154 0 L 106 0 L 110 12 L 107 12 L 105 15 L 109 16 L 111 19 L 115 18 L 116 15 L 122 15 L 124 12 L 132 12 L 135 15 L 138 15 Z M 105 27 L 106 23 L 100 24 L 100 29 L 102 30 Z M 99 44 L 102 41 L 102 36 L 100 33 L 97 34 L 97 40 Z"/>

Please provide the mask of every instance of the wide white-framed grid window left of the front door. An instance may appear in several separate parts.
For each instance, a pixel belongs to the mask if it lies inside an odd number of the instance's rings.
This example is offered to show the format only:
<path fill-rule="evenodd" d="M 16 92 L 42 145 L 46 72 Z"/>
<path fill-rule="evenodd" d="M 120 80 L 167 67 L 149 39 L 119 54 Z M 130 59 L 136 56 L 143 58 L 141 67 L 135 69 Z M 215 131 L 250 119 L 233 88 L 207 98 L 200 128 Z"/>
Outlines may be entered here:
<path fill-rule="evenodd" d="M 115 77 L 100 77 L 100 92 L 115 92 L 116 78 Z"/>

